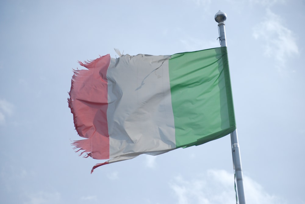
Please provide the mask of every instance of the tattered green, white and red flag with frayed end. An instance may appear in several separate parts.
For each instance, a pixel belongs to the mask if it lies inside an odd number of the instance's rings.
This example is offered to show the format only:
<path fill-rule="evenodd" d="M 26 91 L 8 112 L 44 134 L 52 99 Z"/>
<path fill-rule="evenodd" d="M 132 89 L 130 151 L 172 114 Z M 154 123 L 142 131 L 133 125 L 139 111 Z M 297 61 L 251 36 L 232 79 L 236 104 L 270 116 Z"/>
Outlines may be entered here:
<path fill-rule="evenodd" d="M 201 145 L 236 129 L 227 48 L 79 62 L 68 98 L 81 155 L 98 166 Z M 91 171 L 91 173 L 92 173 Z"/>

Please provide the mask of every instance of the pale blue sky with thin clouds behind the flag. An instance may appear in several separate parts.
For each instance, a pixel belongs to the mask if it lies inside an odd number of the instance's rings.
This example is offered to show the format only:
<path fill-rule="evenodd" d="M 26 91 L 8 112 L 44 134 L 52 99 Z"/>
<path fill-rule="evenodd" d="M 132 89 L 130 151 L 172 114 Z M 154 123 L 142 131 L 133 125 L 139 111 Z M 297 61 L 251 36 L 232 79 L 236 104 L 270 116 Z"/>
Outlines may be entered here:
<path fill-rule="evenodd" d="M 2 0 L 0 202 L 235 203 L 230 136 L 91 168 L 68 108 L 77 61 L 219 47 L 225 21 L 246 203 L 305 204 L 303 0 Z"/>

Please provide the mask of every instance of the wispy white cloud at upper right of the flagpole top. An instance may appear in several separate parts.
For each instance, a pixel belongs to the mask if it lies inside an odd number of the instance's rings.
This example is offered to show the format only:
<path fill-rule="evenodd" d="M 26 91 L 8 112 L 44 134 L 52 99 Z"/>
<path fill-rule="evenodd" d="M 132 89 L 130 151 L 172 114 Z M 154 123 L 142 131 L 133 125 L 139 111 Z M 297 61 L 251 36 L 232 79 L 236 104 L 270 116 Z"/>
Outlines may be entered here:
<path fill-rule="evenodd" d="M 278 66 L 284 65 L 290 56 L 299 53 L 292 31 L 283 26 L 280 17 L 269 9 L 266 20 L 254 27 L 253 37 L 263 41 L 264 54 L 275 58 Z"/>

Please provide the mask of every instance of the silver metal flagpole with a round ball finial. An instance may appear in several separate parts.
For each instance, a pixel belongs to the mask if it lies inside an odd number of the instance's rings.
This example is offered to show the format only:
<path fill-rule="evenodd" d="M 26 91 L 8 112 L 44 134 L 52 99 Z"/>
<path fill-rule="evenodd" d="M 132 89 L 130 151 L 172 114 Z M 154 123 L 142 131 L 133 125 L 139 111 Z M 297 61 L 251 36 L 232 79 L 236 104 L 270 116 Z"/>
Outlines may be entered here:
<path fill-rule="evenodd" d="M 220 10 L 215 14 L 215 21 L 218 23 L 218 28 L 219 28 L 219 41 L 221 47 L 227 46 L 226 33 L 224 29 L 224 25 L 225 25 L 224 21 L 226 19 L 227 19 L 227 14 L 223 13 Z M 233 169 L 235 170 L 235 175 L 236 175 L 239 204 L 246 204 L 244 185 L 242 179 L 242 162 L 240 159 L 239 144 L 238 144 L 236 129 L 231 133 L 231 147 L 232 147 Z"/>

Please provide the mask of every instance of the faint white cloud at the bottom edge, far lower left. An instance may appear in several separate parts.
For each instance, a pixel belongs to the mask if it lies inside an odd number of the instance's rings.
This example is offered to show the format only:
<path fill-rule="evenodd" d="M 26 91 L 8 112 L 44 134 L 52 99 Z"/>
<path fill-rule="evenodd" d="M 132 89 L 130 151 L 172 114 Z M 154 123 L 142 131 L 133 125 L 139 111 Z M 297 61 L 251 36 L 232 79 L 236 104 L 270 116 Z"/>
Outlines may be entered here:
<path fill-rule="evenodd" d="M 35 194 L 28 195 L 29 201 L 24 204 L 54 204 L 61 203 L 61 196 L 59 192 L 48 193 L 40 191 Z"/>

